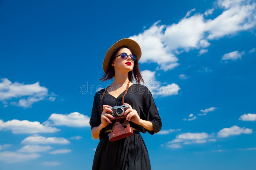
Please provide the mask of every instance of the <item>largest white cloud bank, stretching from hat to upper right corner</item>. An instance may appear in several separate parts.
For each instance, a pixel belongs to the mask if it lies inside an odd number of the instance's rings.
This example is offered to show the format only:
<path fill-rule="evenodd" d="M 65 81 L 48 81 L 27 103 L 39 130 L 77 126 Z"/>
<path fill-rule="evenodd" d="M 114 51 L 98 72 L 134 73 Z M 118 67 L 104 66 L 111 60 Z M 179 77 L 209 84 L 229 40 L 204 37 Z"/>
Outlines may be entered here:
<path fill-rule="evenodd" d="M 195 11 L 192 9 L 178 23 L 161 25 L 156 21 L 144 32 L 129 37 L 140 44 L 143 53 L 140 63 L 153 62 L 158 65 L 156 70 L 168 71 L 180 65 L 176 55 L 191 49 L 198 49 L 199 54 L 203 54 L 209 41 L 234 36 L 256 25 L 255 2 L 222 0 L 217 5 L 223 12 L 216 18 L 204 18 L 214 9 L 190 16 Z"/>

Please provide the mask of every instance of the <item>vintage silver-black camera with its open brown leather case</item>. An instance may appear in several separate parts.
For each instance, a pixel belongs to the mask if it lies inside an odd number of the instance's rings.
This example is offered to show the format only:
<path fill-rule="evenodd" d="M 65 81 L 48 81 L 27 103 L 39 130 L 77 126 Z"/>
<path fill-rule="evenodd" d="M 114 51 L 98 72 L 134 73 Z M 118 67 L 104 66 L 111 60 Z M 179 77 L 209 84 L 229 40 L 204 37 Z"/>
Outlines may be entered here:
<path fill-rule="evenodd" d="M 121 105 L 109 108 L 113 110 L 113 112 L 111 113 L 107 110 L 107 113 L 115 117 L 115 119 L 110 119 L 116 120 L 116 123 L 112 127 L 113 131 L 108 134 L 109 141 L 112 142 L 122 138 L 126 138 L 128 136 L 132 136 L 132 127 L 130 127 L 130 123 L 125 120 L 127 115 L 124 116 L 124 112 L 127 108 L 129 108 L 129 106 Z"/>

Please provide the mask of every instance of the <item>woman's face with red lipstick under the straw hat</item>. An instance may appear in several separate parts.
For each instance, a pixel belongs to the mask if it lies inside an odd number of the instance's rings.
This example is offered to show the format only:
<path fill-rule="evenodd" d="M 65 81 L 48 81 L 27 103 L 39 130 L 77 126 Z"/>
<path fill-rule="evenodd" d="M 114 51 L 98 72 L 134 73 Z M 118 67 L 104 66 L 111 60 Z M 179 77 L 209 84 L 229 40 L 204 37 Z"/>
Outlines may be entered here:
<path fill-rule="evenodd" d="M 123 59 L 121 57 L 121 53 L 126 53 L 127 55 L 131 55 L 132 52 L 131 50 L 129 50 L 128 48 L 121 48 L 117 53 L 116 53 L 116 57 L 112 63 L 112 66 L 115 68 L 115 72 L 116 71 L 121 71 L 121 72 L 129 72 L 132 71 L 133 67 L 134 67 L 134 61 L 132 60 L 131 56 L 128 56 L 127 59 Z M 131 65 L 130 65 L 130 64 Z"/>

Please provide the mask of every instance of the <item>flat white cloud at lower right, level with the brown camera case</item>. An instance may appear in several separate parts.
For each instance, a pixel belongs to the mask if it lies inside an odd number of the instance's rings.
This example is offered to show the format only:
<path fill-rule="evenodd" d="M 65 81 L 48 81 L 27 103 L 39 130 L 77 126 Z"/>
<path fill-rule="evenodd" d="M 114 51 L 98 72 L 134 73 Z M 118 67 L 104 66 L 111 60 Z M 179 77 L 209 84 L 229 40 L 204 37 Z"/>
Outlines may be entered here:
<path fill-rule="evenodd" d="M 245 128 L 245 127 L 240 128 L 239 126 L 234 125 L 230 128 L 221 129 L 218 132 L 217 136 L 218 136 L 218 138 L 226 138 L 230 135 L 240 135 L 242 133 L 250 134 L 250 133 L 252 133 L 252 129 L 248 129 L 248 128 Z"/>

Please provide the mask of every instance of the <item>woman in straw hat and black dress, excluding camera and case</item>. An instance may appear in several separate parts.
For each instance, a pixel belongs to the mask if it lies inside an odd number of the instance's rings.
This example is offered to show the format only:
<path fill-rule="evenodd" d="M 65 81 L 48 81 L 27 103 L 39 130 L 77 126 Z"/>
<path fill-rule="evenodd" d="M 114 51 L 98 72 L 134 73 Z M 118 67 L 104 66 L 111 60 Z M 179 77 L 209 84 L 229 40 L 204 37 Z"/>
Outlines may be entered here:
<path fill-rule="evenodd" d="M 94 96 L 90 125 L 94 139 L 100 138 L 95 151 L 92 170 L 150 170 L 148 150 L 140 132 L 154 134 L 162 127 L 156 104 L 149 89 L 140 84 L 138 60 L 141 49 L 132 39 L 121 39 L 112 45 L 103 60 L 106 81 L 114 77 L 106 89 L 101 89 Z M 138 84 L 133 84 L 131 81 Z M 116 141 L 109 141 L 115 118 L 108 114 L 108 107 L 127 105 L 126 120 L 133 129 L 133 135 Z"/>

